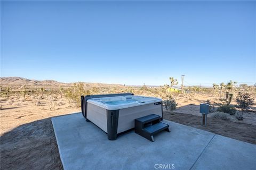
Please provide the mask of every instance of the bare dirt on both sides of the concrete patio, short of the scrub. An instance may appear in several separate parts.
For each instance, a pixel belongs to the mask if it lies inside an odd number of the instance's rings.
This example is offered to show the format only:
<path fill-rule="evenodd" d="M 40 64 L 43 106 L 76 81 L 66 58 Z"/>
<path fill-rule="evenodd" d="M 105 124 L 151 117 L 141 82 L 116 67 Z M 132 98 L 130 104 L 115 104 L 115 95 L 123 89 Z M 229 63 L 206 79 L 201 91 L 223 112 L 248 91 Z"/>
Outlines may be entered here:
<path fill-rule="evenodd" d="M 217 98 L 207 95 L 177 96 L 175 112 L 164 112 L 164 118 L 229 138 L 256 144 L 256 114 L 245 115 L 244 121 L 223 121 L 209 117 L 201 126 L 199 103 Z M 65 98 L 54 100 L 54 107 L 45 99 L 1 99 L 1 169 L 63 169 L 51 117 L 81 112 Z"/>

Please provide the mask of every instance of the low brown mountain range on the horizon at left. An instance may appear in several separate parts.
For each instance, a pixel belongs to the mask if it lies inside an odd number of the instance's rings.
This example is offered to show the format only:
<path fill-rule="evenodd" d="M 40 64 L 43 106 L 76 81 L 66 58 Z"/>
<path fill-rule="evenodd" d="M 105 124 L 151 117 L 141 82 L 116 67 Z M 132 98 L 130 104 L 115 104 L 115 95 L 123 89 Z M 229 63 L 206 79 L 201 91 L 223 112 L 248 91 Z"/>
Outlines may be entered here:
<path fill-rule="evenodd" d="M 63 83 L 55 80 L 30 80 L 20 77 L 0 78 L 3 85 L 27 85 L 27 86 L 72 86 L 74 83 Z M 88 83 L 83 82 L 86 87 L 123 87 L 122 84 Z"/>

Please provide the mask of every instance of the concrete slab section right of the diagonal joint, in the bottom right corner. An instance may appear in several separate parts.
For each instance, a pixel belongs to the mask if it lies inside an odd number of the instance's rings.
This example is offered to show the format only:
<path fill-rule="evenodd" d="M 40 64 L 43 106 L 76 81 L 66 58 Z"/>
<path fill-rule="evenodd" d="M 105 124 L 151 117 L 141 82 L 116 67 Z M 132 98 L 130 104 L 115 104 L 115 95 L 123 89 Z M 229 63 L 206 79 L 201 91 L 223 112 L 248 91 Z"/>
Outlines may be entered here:
<path fill-rule="evenodd" d="M 255 169 L 256 145 L 215 135 L 193 169 Z"/>

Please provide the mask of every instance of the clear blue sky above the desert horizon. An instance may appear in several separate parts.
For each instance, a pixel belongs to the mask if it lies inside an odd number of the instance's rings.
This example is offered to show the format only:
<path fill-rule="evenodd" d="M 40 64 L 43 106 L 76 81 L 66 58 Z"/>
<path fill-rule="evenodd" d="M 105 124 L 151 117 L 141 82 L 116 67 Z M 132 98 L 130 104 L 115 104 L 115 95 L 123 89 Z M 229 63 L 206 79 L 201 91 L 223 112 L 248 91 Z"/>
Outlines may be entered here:
<path fill-rule="evenodd" d="M 1 77 L 255 82 L 255 32 L 255 1 L 1 1 Z"/>

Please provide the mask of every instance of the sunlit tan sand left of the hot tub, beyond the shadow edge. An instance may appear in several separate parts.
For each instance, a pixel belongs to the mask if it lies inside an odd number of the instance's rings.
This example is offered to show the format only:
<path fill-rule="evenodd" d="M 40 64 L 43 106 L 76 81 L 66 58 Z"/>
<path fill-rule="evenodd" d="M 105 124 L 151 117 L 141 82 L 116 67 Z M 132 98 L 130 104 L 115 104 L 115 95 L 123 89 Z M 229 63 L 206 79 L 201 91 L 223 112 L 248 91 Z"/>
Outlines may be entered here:
<path fill-rule="evenodd" d="M 12 100 L 14 100 L 13 103 Z M 46 97 L 40 100 L 37 105 L 35 99 L 28 98 L 22 101 L 22 98 L 18 100 L 14 98 L 12 100 L 1 101 L 1 135 L 22 124 L 81 111 L 81 108 L 70 105 L 65 98 L 58 98 L 53 101 L 55 106 L 51 111 Z"/>

